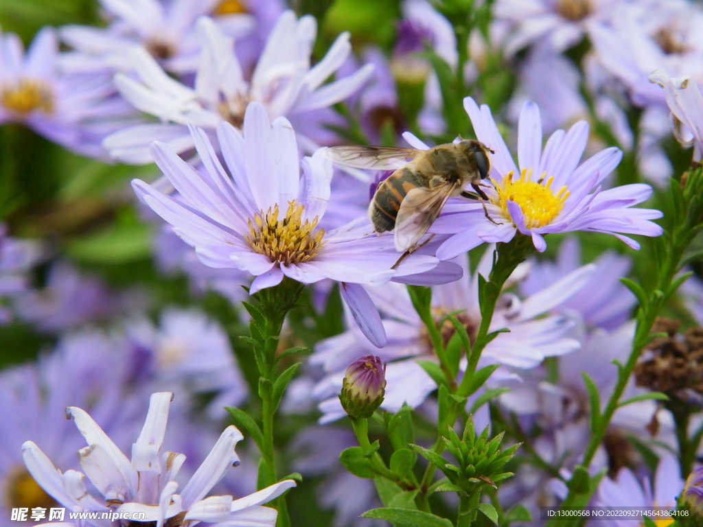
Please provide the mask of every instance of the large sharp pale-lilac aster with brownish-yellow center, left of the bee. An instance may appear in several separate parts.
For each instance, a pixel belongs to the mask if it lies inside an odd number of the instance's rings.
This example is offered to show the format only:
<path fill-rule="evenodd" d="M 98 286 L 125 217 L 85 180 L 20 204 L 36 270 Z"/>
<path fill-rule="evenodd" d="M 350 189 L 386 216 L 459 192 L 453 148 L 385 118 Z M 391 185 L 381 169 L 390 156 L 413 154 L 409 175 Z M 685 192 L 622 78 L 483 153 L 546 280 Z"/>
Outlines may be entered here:
<path fill-rule="evenodd" d="M 368 234 L 373 231 L 368 219 L 329 232 L 318 227 L 330 196 L 331 163 L 321 152 L 299 162 L 292 126 L 284 117 L 271 124 L 260 103 L 250 103 L 243 129 L 244 137 L 227 122 L 217 126 L 231 176 L 205 131 L 193 129 L 204 172 L 193 169 L 167 145 L 155 143 L 154 159 L 180 197 L 176 200 L 134 180 L 138 197 L 195 247 L 202 263 L 254 275 L 251 294 L 278 285 L 284 276 L 304 284 L 324 278 L 344 282 L 345 301 L 382 345 L 380 320 L 373 316 L 373 304 L 362 285 L 430 271 L 439 261 L 413 254 L 392 270 L 399 256 L 392 233 Z"/>

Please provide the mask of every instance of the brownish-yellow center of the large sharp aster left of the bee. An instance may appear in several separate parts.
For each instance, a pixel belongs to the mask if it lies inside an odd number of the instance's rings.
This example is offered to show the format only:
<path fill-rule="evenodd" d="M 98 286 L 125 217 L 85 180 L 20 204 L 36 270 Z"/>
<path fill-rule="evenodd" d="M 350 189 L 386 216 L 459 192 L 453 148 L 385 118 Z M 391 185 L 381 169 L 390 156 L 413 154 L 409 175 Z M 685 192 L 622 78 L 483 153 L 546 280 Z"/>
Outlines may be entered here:
<path fill-rule="evenodd" d="M 315 230 L 318 218 L 302 221 L 304 207 L 295 200 L 288 203 L 285 217 L 278 219 L 278 205 L 267 212 L 254 215 L 249 220 L 249 233 L 245 239 L 259 254 L 269 256 L 278 263 L 302 263 L 317 256 L 325 241 L 325 230 Z"/>

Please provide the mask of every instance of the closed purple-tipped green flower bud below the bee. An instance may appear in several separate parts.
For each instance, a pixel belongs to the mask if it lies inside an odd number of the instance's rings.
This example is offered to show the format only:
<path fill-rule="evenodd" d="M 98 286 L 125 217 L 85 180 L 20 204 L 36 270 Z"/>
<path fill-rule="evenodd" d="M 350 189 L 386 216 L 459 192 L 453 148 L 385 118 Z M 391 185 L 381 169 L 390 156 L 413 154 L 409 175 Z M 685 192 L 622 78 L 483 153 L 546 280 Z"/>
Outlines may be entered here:
<path fill-rule="evenodd" d="M 371 417 L 383 402 L 386 365 L 379 357 L 367 355 L 349 365 L 342 381 L 340 401 L 349 417 Z"/>

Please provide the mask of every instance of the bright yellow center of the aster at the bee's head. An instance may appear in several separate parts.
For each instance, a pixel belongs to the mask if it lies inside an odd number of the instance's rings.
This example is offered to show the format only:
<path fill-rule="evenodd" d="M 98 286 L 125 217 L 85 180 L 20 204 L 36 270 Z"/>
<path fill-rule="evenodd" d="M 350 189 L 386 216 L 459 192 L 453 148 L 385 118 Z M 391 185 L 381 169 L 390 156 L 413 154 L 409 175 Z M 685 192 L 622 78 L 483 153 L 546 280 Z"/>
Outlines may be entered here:
<path fill-rule="evenodd" d="M 550 188 L 554 176 L 543 183 L 546 173 L 542 174 L 539 181 L 529 181 L 531 174 L 531 170 L 528 173 L 526 169 L 522 169 L 520 179 L 517 181 L 512 181 L 512 171 L 503 178 L 501 183 L 496 183 L 491 179 L 498 192 L 497 197 L 491 197 L 491 202 L 501 207 L 503 215 L 510 218 L 508 202 L 513 201 L 520 205 L 527 228 L 543 227 L 551 223 L 564 208 L 564 202 L 569 197 L 569 190 L 563 186 L 555 194 Z"/>

